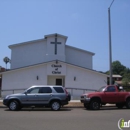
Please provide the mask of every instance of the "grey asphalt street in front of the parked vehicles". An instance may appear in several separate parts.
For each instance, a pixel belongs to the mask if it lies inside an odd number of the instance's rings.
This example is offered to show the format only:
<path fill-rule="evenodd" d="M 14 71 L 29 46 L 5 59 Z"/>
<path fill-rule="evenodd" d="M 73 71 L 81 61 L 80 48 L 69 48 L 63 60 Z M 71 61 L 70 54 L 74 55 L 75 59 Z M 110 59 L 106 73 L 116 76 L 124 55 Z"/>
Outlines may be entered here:
<path fill-rule="evenodd" d="M 118 130 L 120 118 L 130 120 L 130 110 L 103 107 L 99 111 L 84 108 L 62 108 L 60 111 L 25 108 L 9 111 L 1 107 L 0 130 Z"/>

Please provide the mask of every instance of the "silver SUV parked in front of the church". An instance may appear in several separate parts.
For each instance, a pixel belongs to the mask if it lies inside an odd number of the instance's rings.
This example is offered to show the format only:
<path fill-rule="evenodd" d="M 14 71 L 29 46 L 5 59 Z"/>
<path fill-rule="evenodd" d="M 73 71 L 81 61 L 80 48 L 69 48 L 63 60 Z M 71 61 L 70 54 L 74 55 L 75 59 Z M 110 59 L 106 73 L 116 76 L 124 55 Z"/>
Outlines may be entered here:
<path fill-rule="evenodd" d="M 25 90 L 23 93 L 8 95 L 3 104 L 10 110 L 20 110 L 22 107 L 51 107 L 60 110 L 67 105 L 70 94 L 62 86 L 37 85 Z"/>

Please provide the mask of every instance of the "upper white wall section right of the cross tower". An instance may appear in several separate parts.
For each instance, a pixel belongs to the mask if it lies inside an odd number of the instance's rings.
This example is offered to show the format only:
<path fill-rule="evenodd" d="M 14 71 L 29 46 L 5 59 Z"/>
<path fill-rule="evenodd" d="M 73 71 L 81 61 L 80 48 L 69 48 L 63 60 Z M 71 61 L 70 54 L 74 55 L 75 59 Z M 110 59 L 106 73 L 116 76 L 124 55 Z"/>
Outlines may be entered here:
<path fill-rule="evenodd" d="M 66 46 L 66 62 L 92 69 L 92 54 Z"/>

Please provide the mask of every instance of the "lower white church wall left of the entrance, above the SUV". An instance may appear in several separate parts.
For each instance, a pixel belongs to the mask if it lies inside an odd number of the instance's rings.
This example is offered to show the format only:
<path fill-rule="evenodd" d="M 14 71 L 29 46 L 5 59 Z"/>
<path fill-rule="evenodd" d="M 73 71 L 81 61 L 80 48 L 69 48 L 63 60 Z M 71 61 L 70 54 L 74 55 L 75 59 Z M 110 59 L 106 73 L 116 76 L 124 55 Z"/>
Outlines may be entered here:
<path fill-rule="evenodd" d="M 2 90 L 9 89 L 27 89 L 32 85 L 47 84 L 46 65 L 37 65 L 25 69 L 13 70 L 5 72 L 2 75 Z M 38 76 L 38 80 L 37 80 Z M 12 91 L 9 91 L 12 93 Z M 2 96 L 7 92 L 2 92 Z"/>

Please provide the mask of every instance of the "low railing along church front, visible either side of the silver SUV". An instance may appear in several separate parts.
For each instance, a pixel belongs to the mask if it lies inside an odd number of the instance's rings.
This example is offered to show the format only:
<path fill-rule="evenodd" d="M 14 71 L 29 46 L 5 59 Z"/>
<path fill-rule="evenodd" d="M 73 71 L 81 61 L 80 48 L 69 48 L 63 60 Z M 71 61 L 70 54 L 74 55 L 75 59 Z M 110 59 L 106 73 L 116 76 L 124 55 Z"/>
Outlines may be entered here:
<path fill-rule="evenodd" d="M 79 100 L 80 96 L 83 93 L 86 93 L 87 91 L 96 91 L 94 89 L 86 89 L 86 88 L 69 88 L 69 87 L 67 87 L 66 89 L 71 94 L 71 99 L 77 99 L 77 100 Z M 25 88 L 0 90 L 0 97 L 5 97 L 8 94 L 23 92 L 25 90 L 26 90 Z"/>

